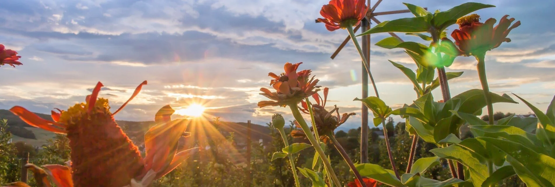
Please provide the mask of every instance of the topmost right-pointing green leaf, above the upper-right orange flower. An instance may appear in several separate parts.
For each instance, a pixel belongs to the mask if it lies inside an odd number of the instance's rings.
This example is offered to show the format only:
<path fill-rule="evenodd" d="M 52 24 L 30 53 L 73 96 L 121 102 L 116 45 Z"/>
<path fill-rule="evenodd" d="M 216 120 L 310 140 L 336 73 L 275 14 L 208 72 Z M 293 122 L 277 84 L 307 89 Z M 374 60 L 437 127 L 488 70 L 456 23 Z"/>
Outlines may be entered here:
<path fill-rule="evenodd" d="M 458 18 L 465 16 L 466 14 L 472 13 L 482 8 L 495 7 L 490 4 L 482 3 L 463 3 L 460 6 L 453 7 L 444 12 L 438 12 L 434 15 L 432 19 L 432 24 L 439 30 L 443 30 L 452 24 L 457 22 Z"/>

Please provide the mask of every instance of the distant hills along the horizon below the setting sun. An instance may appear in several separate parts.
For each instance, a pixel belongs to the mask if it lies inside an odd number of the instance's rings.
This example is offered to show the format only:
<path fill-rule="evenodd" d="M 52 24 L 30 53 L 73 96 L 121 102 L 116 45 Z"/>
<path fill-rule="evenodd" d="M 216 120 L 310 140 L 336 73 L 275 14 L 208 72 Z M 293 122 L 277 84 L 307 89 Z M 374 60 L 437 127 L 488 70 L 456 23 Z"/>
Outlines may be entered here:
<path fill-rule="evenodd" d="M 46 115 L 42 113 L 36 113 L 36 114 L 44 118 L 45 120 L 52 120 L 52 117 L 50 115 Z M 29 139 L 29 138 L 19 137 L 17 136 L 16 133 L 12 132 L 14 134 L 14 142 L 24 141 L 24 142 L 32 143 L 34 144 L 34 146 L 42 146 L 39 144 L 46 142 L 46 139 L 44 138 L 52 138 L 54 136 L 54 133 L 41 131 L 42 129 L 29 126 L 29 124 L 23 122 L 21 118 L 19 118 L 16 115 L 13 115 L 13 113 L 8 110 L 0 110 L 0 119 L 8 120 L 8 126 L 24 127 L 25 129 L 30 129 L 31 131 L 35 132 L 35 134 L 37 135 L 36 136 L 37 139 Z M 144 142 L 144 133 L 147 132 L 151 126 L 154 125 L 154 121 L 137 122 L 137 121 L 116 120 L 116 122 L 119 124 L 120 127 L 124 129 L 125 133 L 127 133 L 128 136 L 134 142 Z M 214 126 L 213 121 L 206 121 L 206 122 L 208 122 L 211 126 Z M 201 126 L 206 126 L 206 125 L 208 124 L 201 124 Z M 230 132 L 234 132 L 235 141 L 237 141 L 238 143 L 244 143 L 246 141 L 247 123 L 220 122 L 219 127 L 221 131 L 220 134 L 222 135 L 222 137 L 229 136 Z M 202 128 L 196 127 L 196 129 L 203 129 L 203 130 L 196 130 L 197 131 L 196 133 L 201 133 L 200 131 L 205 131 L 204 133 L 207 133 L 210 131 L 213 133 L 215 132 L 214 131 L 215 128 L 209 127 L 209 126 L 202 127 Z M 263 143 L 266 144 L 271 141 L 271 137 L 269 136 L 270 129 L 267 126 L 261 126 L 259 124 L 251 124 L 251 129 L 252 129 L 251 139 L 253 142 L 259 142 L 259 139 L 262 139 Z M 187 131 L 191 132 L 191 129 L 188 129 Z M 37 134 L 37 132 L 40 132 L 40 134 Z"/>

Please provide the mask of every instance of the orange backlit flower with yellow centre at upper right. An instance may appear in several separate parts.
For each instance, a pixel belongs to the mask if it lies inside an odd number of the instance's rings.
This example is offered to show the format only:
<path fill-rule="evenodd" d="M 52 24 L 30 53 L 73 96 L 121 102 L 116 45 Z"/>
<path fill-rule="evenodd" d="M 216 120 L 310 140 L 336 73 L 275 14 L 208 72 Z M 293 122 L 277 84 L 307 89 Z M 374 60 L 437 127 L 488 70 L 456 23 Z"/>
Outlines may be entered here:
<path fill-rule="evenodd" d="M 485 23 L 480 23 L 480 15 L 478 14 L 459 18 L 457 24 L 460 30 L 453 30 L 451 37 L 455 39 L 455 44 L 460 49 L 458 51 L 460 55 L 485 55 L 486 51 L 497 48 L 503 41 L 511 42 L 507 35 L 521 23 L 518 21 L 511 26 L 514 18 L 507 19 L 508 16 L 504 15 L 495 28 L 493 24 L 496 23 L 496 20 L 493 18 L 486 20 Z M 509 28 L 509 26 L 511 27 Z M 452 43 L 451 40 L 446 38 L 442 40 Z"/>

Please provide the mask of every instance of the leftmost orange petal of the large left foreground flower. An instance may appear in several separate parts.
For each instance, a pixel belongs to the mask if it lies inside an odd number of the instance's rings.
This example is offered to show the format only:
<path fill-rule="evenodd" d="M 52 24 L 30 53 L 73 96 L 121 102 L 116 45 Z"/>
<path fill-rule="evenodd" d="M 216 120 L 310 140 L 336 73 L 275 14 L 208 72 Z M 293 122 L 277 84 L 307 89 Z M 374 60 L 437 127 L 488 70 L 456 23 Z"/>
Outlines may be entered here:
<path fill-rule="evenodd" d="M 28 111 L 27 109 L 21 106 L 14 106 L 9 111 L 12 112 L 14 115 L 19 116 L 21 120 L 23 120 L 24 122 L 26 122 L 27 124 L 33 127 L 42 128 L 54 133 L 63 133 L 63 134 L 67 133 L 65 129 L 60 129 L 53 126 L 53 124 L 55 124 L 56 122 L 44 120 L 43 118 L 37 116 L 33 112 Z"/>

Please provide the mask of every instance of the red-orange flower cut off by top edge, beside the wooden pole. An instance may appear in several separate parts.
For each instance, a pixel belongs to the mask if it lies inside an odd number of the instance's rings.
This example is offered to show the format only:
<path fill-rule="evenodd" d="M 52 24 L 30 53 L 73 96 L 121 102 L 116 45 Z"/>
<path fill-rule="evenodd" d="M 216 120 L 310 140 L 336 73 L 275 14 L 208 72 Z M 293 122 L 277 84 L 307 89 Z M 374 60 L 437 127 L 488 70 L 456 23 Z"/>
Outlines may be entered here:
<path fill-rule="evenodd" d="M 326 24 L 326 29 L 334 31 L 354 27 L 366 15 L 367 7 L 365 0 L 331 0 L 329 4 L 322 6 L 318 20 Z"/>

